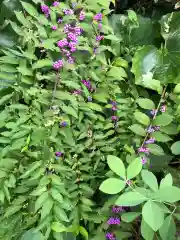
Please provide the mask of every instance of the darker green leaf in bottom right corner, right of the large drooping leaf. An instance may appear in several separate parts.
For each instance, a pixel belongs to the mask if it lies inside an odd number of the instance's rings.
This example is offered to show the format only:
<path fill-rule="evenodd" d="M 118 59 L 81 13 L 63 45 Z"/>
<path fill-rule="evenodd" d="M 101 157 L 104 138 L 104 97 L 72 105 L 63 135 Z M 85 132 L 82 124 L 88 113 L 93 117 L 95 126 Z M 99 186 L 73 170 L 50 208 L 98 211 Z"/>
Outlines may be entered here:
<path fill-rule="evenodd" d="M 176 234 L 176 225 L 172 215 L 165 218 L 163 225 L 159 229 L 159 234 L 162 240 L 174 239 Z"/>

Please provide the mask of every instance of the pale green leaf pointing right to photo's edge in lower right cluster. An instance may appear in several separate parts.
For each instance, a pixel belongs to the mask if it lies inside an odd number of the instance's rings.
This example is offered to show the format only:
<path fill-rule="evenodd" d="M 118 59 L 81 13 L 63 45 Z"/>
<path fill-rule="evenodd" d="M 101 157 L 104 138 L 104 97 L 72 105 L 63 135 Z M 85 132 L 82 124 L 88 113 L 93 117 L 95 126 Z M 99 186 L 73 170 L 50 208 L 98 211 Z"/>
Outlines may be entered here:
<path fill-rule="evenodd" d="M 160 188 L 153 197 L 160 201 L 174 203 L 180 200 L 180 188 L 175 186 L 167 186 Z"/>

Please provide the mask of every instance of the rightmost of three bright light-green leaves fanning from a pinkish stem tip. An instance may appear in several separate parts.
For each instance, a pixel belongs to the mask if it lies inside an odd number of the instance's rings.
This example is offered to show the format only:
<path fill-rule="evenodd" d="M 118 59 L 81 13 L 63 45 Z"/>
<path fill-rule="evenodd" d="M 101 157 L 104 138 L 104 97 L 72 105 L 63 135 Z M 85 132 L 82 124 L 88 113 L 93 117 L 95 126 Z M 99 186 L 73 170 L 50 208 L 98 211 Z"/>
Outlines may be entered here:
<path fill-rule="evenodd" d="M 127 179 L 136 177 L 142 170 L 142 163 L 140 158 L 134 159 L 127 168 Z"/>

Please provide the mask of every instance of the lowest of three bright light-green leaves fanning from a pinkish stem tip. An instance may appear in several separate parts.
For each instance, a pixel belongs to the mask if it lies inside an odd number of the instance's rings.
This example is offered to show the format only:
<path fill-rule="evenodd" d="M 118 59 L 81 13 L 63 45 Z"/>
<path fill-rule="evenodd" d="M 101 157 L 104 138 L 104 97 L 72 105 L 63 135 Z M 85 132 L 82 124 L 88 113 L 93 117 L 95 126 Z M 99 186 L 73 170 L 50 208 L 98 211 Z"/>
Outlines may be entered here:
<path fill-rule="evenodd" d="M 99 189 L 107 194 L 116 194 L 122 191 L 125 185 L 125 181 L 117 178 L 108 178 L 101 183 Z"/>

